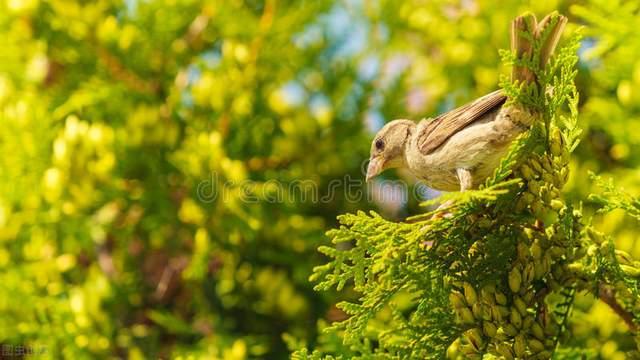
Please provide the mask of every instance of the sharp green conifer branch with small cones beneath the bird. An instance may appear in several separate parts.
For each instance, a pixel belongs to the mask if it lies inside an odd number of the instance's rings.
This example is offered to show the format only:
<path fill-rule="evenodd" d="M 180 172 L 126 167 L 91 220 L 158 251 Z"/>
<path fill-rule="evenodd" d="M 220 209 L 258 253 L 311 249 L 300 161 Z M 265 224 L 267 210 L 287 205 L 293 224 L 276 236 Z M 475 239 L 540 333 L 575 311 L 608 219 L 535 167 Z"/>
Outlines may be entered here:
<path fill-rule="evenodd" d="M 635 328 L 638 263 L 621 265 L 612 242 L 595 239 L 581 211 L 560 197 L 580 135 L 579 39 L 544 69 L 532 66 L 535 55 L 529 63 L 503 54 L 539 79 L 529 87 L 503 81 L 508 105 L 541 116 L 487 187 L 445 196 L 454 205 L 444 218 L 397 223 L 360 212 L 339 217 L 340 228 L 327 233 L 336 246 L 320 248 L 330 261 L 311 280 L 317 290 L 353 281 L 359 298 L 339 304 L 348 319 L 325 329 L 342 334 L 351 358 L 550 358 L 567 338 L 577 291 L 593 292 Z"/>

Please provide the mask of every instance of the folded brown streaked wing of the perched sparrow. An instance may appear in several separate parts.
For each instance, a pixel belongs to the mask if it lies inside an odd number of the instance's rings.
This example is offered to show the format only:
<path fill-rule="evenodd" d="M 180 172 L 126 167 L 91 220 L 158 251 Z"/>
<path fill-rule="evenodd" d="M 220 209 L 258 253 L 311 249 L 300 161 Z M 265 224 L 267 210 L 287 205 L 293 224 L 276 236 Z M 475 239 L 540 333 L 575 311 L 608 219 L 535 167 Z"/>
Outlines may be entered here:
<path fill-rule="evenodd" d="M 429 121 L 418 135 L 418 149 L 424 155 L 432 153 L 455 133 L 501 106 L 506 100 L 507 96 L 502 90 L 496 90 Z"/>

